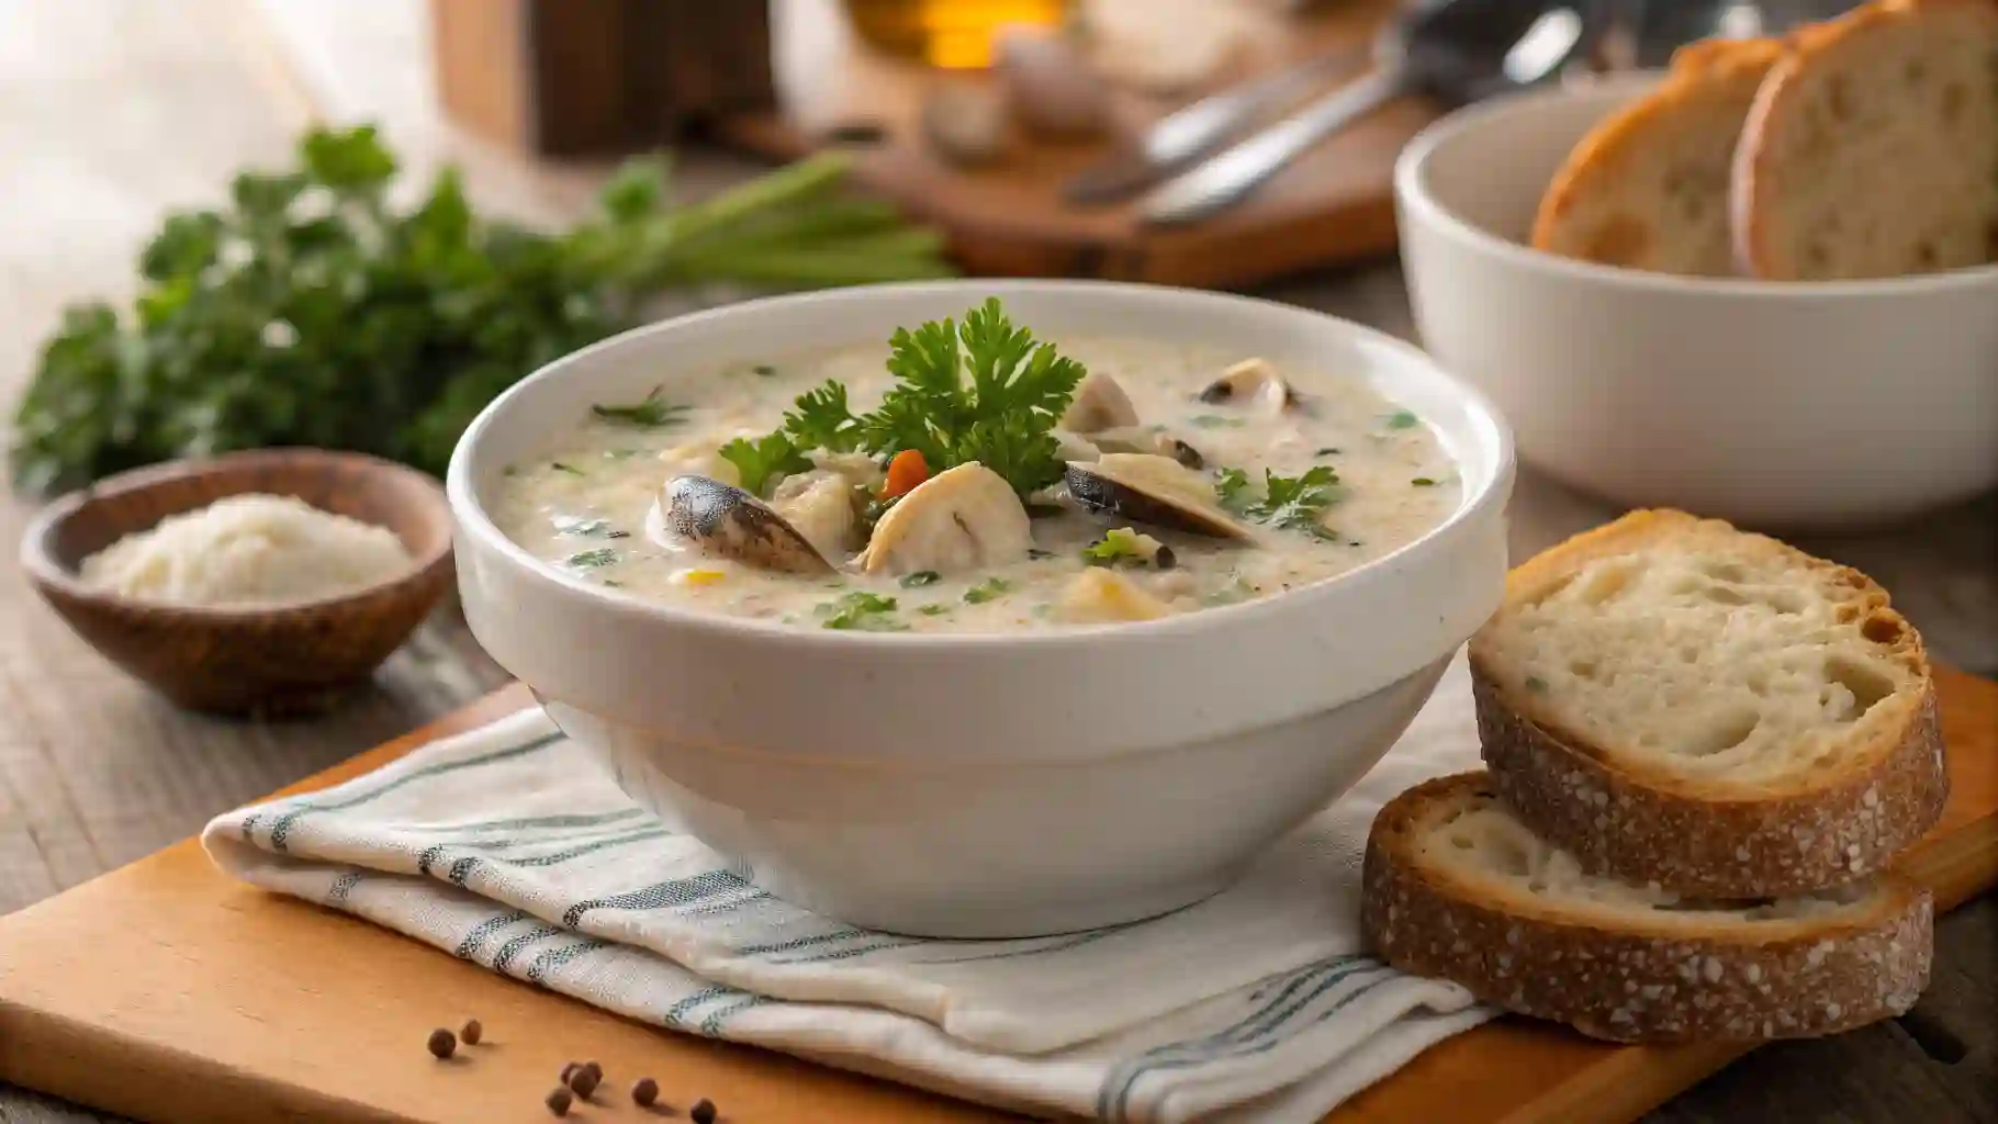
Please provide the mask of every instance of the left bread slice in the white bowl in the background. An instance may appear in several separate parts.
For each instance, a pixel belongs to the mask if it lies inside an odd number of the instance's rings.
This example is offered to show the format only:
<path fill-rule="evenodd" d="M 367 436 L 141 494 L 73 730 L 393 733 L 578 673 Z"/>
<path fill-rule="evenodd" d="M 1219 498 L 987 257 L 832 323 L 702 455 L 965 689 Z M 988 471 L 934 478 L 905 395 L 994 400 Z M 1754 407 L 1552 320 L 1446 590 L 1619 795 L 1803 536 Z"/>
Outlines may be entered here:
<path fill-rule="evenodd" d="M 1598 124 L 1540 200 L 1532 246 L 1662 274 L 1734 274 L 1728 174 L 1776 40 L 1680 48 L 1664 82 Z"/>

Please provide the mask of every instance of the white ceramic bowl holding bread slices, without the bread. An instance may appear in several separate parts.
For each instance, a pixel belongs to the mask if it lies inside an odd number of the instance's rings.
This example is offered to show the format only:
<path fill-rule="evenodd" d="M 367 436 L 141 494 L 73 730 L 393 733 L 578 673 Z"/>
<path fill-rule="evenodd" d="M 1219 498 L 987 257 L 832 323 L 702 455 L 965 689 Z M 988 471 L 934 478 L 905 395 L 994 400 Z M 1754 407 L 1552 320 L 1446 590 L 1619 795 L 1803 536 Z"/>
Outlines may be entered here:
<path fill-rule="evenodd" d="M 1582 134 L 1654 78 L 1451 114 L 1395 170 L 1423 343 L 1520 457 L 1628 505 L 1874 523 L 1998 483 L 1998 266 L 1882 281 L 1700 280 L 1524 246 Z"/>

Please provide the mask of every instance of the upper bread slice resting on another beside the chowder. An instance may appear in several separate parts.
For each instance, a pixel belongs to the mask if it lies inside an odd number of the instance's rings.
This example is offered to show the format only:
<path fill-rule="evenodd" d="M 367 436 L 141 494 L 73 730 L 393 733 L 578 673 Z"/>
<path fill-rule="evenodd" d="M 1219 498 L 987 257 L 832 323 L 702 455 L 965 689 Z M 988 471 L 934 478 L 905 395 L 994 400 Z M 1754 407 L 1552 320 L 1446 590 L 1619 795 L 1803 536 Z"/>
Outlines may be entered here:
<path fill-rule="evenodd" d="M 1716 519 L 1636 511 L 1514 569 L 1471 671 L 1498 793 L 1596 872 L 1832 886 L 1948 799 L 1922 639 L 1886 593 Z"/>

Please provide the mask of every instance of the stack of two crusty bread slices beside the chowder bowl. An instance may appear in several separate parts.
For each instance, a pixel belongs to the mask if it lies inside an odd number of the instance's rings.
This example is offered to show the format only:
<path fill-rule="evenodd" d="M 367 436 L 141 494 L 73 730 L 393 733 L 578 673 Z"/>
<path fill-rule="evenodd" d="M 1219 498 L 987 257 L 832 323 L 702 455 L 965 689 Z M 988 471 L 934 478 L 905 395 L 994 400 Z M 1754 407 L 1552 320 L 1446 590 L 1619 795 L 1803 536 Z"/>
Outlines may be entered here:
<path fill-rule="evenodd" d="M 1518 567 L 1471 675 L 1487 771 L 1369 839 L 1389 962 L 1628 1042 L 1914 1004 L 1932 900 L 1888 866 L 1950 783 L 1922 641 L 1870 579 L 1638 511 Z"/>

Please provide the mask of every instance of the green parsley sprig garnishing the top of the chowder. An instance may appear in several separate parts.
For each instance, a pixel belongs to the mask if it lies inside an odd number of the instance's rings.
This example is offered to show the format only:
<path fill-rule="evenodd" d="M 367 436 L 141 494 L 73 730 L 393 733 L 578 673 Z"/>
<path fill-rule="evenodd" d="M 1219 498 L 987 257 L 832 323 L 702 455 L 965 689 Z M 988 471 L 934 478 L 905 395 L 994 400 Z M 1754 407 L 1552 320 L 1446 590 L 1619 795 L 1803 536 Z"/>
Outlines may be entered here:
<path fill-rule="evenodd" d="M 847 387 L 827 379 L 797 397 L 781 429 L 729 441 L 721 455 L 749 491 L 809 469 L 811 449 L 875 457 L 915 449 L 931 475 L 979 461 L 1021 499 L 1061 479 L 1053 429 L 1087 371 L 1013 325 L 997 297 L 967 311 L 961 325 L 945 317 L 897 329 L 887 369 L 895 385 L 873 411 L 855 415 Z"/>

